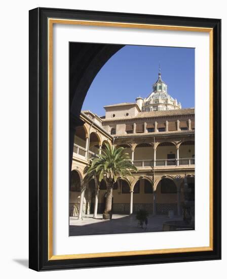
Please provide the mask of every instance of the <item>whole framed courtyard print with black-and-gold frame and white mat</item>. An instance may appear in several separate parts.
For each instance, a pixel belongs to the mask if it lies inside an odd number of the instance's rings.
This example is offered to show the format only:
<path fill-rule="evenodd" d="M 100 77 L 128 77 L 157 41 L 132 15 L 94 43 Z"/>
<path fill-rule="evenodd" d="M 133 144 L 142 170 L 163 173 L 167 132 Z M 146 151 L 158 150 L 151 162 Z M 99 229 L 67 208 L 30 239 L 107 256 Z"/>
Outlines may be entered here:
<path fill-rule="evenodd" d="M 221 257 L 219 19 L 29 11 L 29 267 Z"/>

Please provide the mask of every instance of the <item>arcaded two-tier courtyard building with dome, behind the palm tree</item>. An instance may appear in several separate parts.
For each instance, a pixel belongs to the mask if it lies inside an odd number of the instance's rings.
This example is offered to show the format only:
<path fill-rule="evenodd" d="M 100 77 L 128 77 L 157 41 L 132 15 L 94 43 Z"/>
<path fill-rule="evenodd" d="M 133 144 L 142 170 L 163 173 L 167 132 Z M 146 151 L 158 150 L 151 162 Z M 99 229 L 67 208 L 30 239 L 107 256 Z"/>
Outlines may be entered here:
<path fill-rule="evenodd" d="M 161 85 L 161 87 L 160 87 Z M 160 90 L 160 91 L 159 91 Z M 84 125 L 74 137 L 70 182 L 70 216 L 97 216 L 105 206 L 106 184 L 83 185 L 88 160 L 101 154 L 104 143 L 125 148 L 137 167 L 130 179 L 113 188 L 112 213 L 129 215 L 143 208 L 153 215 L 182 215 L 185 183 L 195 193 L 195 112 L 182 109 L 161 79 L 147 98 L 105 106 L 105 116 L 83 111 Z"/>

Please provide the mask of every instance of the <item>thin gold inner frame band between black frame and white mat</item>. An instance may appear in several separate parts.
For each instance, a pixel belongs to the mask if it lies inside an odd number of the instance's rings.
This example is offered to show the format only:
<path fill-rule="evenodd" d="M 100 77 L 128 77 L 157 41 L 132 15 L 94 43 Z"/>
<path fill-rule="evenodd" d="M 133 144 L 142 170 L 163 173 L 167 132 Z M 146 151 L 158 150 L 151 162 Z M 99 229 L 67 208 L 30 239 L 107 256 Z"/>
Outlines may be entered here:
<path fill-rule="evenodd" d="M 93 25 L 105 27 L 124 27 L 124 28 L 144 28 L 158 30 L 177 30 L 177 31 L 196 31 L 209 32 L 209 113 L 210 113 L 210 134 L 209 134 L 209 151 L 210 151 L 210 183 L 209 183 L 209 246 L 192 247 L 192 248 L 173 248 L 159 250 L 140 250 L 124 252 L 107 252 L 91 254 L 72 254 L 72 255 L 53 255 L 53 24 L 76 24 L 76 25 Z M 188 27 L 174 25 L 154 25 L 138 24 L 127 22 L 108 22 L 108 21 L 90 21 L 90 20 L 71 20 L 71 19 L 48 19 L 48 260 L 65 260 L 65 259 L 83 259 L 99 257 L 117 257 L 132 255 L 154 255 L 183 252 L 199 252 L 213 250 L 213 28 Z"/>

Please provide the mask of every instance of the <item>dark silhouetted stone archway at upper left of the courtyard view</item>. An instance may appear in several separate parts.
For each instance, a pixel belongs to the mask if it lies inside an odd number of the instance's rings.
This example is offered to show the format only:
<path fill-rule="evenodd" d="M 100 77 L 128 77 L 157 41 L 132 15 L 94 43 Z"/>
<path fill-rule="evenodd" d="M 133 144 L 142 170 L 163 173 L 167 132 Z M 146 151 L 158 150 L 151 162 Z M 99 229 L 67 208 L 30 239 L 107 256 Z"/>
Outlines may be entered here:
<path fill-rule="evenodd" d="M 69 44 L 69 170 L 71 170 L 74 132 L 83 125 L 81 109 L 88 89 L 109 58 L 125 45 Z"/>

